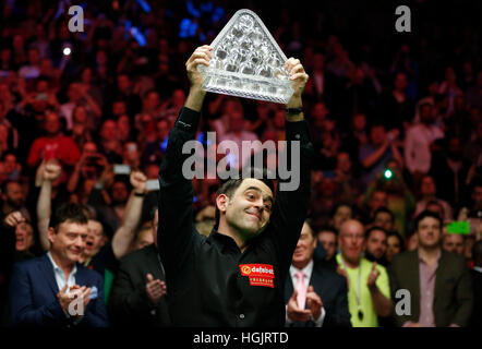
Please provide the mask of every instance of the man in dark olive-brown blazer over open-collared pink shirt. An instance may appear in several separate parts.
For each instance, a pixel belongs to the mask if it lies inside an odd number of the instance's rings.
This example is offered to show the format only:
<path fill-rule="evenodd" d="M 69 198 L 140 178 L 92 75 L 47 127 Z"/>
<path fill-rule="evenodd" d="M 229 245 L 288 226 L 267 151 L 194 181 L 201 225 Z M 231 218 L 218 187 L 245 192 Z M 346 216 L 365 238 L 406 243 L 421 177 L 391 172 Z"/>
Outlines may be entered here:
<path fill-rule="evenodd" d="M 395 321 L 405 327 L 467 326 L 473 309 L 472 282 L 463 257 L 441 248 L 442 219 L 424 210 L 415 219 L 419 248 L 398 254 L 390 267 Z M 397 296 L 405 289 L 407 292 Z M 410 306 L 409 306 L 410 305 Z"/>

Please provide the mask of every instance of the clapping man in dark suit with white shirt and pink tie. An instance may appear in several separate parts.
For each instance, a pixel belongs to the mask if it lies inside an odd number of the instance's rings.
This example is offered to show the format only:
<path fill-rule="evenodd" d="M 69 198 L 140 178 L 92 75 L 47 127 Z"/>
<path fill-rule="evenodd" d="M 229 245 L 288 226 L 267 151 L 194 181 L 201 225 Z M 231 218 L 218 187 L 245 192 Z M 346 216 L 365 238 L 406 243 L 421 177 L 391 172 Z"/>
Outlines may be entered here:
<path fill-rule="evenodd" d="M 313 261 L 316 238 L 304 222 L 285 284 L 287 325 L 292 327 L 350 327 L 347 281 Z"/>

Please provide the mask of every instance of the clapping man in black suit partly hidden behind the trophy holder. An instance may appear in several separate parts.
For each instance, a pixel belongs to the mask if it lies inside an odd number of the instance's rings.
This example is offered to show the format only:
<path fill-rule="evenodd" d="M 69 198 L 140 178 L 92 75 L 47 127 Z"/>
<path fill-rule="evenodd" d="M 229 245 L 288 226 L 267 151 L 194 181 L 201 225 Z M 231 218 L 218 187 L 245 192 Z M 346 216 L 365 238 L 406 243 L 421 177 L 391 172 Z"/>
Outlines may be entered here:
<path fill-rule="evenodd" d="M 166 277 L 157 251 L 158 209 L 154 213 L 154 243 L 120 261 L 108 304 L 110 318 L 119 326 L 169 326 Z"/>

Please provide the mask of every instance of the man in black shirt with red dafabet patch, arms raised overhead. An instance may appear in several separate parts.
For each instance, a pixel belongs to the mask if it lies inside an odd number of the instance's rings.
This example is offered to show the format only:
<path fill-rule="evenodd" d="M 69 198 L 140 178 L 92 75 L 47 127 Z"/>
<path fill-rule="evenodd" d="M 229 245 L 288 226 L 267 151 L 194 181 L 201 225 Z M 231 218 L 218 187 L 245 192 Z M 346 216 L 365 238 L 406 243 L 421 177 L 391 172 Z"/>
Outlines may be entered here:
<path fill-rule="evenodd" d="M 186 62 L 190 93 L 169 135 L 159 170 L 158 242 L 174 326 L 284 326 L 285 278 L 310 202 L 313 146 L 302 111 L 308 74 L 299 60 L 285 68 L 293 94 L 287 104 L 287 141 L 300 142 L 300 185 L 278 191 L 262 169 L 229 179 L 216 197 L 209 237 L 193 225 L 193 189 L 182 173 L 183 144 L 196 134 L 206 92 L 198 67 L 213 49 L 198 47 Z M 278 183 L 279 185 L 279 183 Z"/>

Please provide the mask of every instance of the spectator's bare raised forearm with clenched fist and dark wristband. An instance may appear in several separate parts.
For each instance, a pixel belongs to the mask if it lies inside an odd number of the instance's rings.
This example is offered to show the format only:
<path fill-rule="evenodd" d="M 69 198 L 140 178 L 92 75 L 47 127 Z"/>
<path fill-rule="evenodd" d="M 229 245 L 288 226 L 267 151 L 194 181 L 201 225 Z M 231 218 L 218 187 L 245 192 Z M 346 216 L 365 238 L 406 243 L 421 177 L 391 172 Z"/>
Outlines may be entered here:
<path fill-rule="evenodd" d="M 129 252 L 134 240 L 134 232 L 141 220 L 142 206 L 146 193 L 147 178 L 144 173 L 132 171 L 130 179 L 133 190 L 125 206 L 121 226 L 112 238 L 112 251 L 118 260 Z"/>

